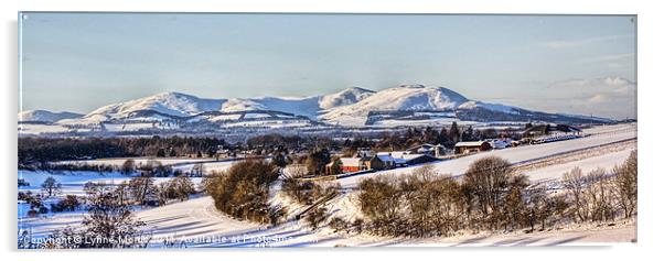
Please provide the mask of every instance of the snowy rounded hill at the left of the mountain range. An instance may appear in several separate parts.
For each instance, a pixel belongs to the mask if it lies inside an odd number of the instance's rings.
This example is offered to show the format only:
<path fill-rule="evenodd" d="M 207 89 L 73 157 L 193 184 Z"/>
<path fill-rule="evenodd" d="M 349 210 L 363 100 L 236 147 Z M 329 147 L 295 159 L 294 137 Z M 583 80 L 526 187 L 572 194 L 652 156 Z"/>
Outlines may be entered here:
<path fill-rule="evenodd" d="M 186 117 L 204 111 L 214 111 L 222 108 L 225 99 L 203 99 L 180 93 L 162 93 L 146 98 L 129 100 L 115 105 L 104 106 L 85 116 L 106 116 L 108 118 L 124 118 L 131 112 L 151 110 L 169 116 Z"/>

